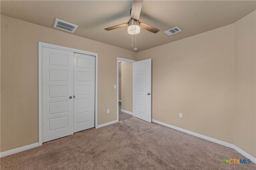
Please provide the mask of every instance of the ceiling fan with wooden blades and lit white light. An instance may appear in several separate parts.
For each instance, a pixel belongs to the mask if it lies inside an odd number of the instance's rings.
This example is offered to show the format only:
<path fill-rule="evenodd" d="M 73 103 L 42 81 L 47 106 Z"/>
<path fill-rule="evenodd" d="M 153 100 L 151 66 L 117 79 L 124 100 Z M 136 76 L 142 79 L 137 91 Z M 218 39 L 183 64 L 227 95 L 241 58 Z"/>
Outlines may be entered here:
<path fill-rule="evenodd" d="M 143 28 L 144 30 L 153 32 L 155 34 L 158 33 L 160 30 L 158 30 L 157 28 L 154 28 L 148 24 L 139 21 L 142 3 L 143 0 L 133 0 L 132 8 L 130 9 L 131 19 L 127 23 L 105 28 L 104 30 L 110 31 L 128 26 L 127 32 L 132 35 L 139 34 L 140 28 Z"/>

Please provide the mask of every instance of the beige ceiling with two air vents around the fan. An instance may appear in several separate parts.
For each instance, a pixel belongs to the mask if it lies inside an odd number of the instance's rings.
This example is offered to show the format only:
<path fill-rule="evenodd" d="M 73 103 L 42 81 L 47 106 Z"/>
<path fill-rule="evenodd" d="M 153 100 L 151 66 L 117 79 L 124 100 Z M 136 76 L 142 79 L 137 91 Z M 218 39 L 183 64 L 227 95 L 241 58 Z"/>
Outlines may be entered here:
<path fill-rule="evenodd" d="M 141 30 L 132 47 L 127 28 L 104 28 L 128 22 L 132 1 L 1 1 L 1 14 L 52 29 L 55 18 L 78 25 L 73 34 L 138 51 L 232 24 L 256 9 L 256 1 L 144 1 L 140 21 L 160 29 Z M 178 26 L 182 32 L 164 31 Z M 72 34 L 72 33 L 68 33 Z"/>

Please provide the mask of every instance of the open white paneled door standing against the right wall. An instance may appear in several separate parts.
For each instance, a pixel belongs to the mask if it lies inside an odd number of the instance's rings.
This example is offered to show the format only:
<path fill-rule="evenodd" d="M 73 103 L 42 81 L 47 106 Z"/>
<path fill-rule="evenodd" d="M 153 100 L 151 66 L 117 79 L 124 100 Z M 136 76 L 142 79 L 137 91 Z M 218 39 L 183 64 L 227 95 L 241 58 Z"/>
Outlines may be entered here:
<path fill-rule="evenodd" d="M 151 122 L 151 61 L 134 63 L 134 117 Z"/>

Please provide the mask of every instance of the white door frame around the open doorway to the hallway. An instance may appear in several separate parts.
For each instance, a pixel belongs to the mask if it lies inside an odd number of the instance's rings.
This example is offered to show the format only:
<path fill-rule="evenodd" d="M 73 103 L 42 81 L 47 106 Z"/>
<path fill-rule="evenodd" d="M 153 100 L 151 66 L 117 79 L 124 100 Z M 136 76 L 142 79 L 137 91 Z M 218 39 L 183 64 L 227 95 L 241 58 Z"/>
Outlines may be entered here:
<path fill-rule="evenodd" d="M 117 68 L 117 75 L 116 75 L 116 79 L 117 79 L 117 83 L 116 83 L 116 101 L 117 101 L 117 110 L 116 110 L 116 121 L 119 122 L 119 65 L 118 65 L 118 61 L 126 61 L 129 63 L 132 63 L 132 81 L 134 81 L 134 63 L 136 62 L 136 60 L 132 60 L 132 59 L 126 59 L 126 58 L 120 58 L 120 57 L 116 57 L 116 68 Z M 132 113 L 134 113 L 134 82 L 132 83 Z"/>

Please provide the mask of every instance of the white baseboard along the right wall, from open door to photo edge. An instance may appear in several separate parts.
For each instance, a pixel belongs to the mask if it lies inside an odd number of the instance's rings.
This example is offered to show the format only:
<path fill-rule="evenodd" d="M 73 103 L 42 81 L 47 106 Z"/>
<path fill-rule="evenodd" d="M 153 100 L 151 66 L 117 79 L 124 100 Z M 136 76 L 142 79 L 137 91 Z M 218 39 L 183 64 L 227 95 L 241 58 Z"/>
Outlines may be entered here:
<path fill-rule="evenodd" d="M 232 148 L 234 150 L 236 150 L 237 152 L 239 152 L 240 154 L 244 155 L 246 158 L 250 159 L 252 162 L 256 163 L 256 158 L 254 158 L 252 155 L 248 154 L 247 152 L 244 152 L 244 150 L 238 148 L 237 146 L 235 146 L 234 144 L 230 144 L 228 142 L 224 142 L 222 140 L 218 140 L 218 139 L 215 139 L 215 138 L 211 138 L 211 137 L 208 137 L 208 136 L 204 136 L 202 134 L 199 134 L 199 133 L 196 133 L 196 132 L 192 132 L 192 131 L 189 131 L 189 130 L 186 130 L 184 128 L 179 128 L 179 127 L 175 127 L 173 125 L 169 125 L 167 123 L 163 123 L 163 122 L 160 122 L 160 121 L 156 121 L 154 119 L 152 119 L 152 122 L 154 123 L 158 123 L 160 125 L 164 125 L 166 127 L 169 127 L 169 128 L 173 128 L 173 129 L 176 129 L 176 130 L 179 130 L 181 132 L 185 132 L 185 133 L 188 133 L 188 134 L 191 134 L 193 136 L 197 136 L 199 138 L 203 138 L 205 140 L 209 140 L 211 142 L 214 142 L 214 143 L 217 143 L 217 144 L 221 144 L 223 146 L 227 146 L 229 148 Z"/>

